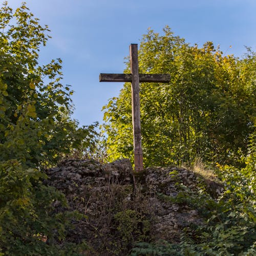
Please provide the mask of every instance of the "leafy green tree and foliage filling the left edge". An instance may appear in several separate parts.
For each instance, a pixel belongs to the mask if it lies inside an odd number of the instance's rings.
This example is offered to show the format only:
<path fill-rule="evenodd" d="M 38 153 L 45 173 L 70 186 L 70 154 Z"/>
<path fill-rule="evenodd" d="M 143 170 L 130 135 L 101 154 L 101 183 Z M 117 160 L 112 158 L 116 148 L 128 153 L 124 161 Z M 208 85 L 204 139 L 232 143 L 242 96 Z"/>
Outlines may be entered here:
<path fill-rule="evenodd" d="M 84 244 L 69 245 L 67 228 L 82 218 L 54 213 L 65 197 L 43 184 L 44 167 L 96 143 L 96 124 L 78 127 L 72 91 L 63 87 L 61 60 L 39 66 L 49 29 L 23 4 L 0 10 L 0 254 L 76 255 Z"/>

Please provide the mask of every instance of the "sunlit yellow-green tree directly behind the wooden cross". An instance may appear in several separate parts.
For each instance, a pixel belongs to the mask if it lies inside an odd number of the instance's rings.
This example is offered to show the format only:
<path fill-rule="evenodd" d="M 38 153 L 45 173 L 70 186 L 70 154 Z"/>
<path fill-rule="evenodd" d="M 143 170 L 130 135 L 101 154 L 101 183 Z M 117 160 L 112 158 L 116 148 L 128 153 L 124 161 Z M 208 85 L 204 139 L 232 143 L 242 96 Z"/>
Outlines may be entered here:
<path fill-rule="evenodd" d="M 168 73 L 169 84 L 142 83 L 141 126 L 145 165 L 236 161 L 253 131 L 255 55 L 223 56 L 212 42 L 189 46 L 168 27 L 149 30 L 139 49 L 139 72 Z M 127 67 L 129 63 L 127 63 Z M 250 75 L 248 71 L 250 70 Z M 129 72 L 125 70 L 125 72 Z M 109 159 L 132 158 L 131 89 L 103 107 Z"/>

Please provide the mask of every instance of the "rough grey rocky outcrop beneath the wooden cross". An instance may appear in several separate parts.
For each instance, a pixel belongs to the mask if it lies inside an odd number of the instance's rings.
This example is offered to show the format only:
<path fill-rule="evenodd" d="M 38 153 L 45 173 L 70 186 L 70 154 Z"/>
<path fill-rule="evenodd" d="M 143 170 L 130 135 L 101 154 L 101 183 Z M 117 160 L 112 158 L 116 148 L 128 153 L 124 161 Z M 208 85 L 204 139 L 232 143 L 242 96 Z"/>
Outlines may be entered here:
<path fill-rule="evenodd" d="M 46 184 L 65 194 L 70 209 L 87 216 L 74 223 L 69 239 L 86 240 L 92 255 L 126 255 L 132 242 L 179 242 L 184 227 L 202 222 L 197 209 L 175 200 L 181 191 L 185 195 L 205 186 L 202 178 L 184 168 L 154 167 L 133 174 L 127 159 L 108 164 L 70 159 L 47 174 Z M 59 202 L 54 206 L 61 210 Z M 126 223 L 129 218 L 134 226 Z"/>

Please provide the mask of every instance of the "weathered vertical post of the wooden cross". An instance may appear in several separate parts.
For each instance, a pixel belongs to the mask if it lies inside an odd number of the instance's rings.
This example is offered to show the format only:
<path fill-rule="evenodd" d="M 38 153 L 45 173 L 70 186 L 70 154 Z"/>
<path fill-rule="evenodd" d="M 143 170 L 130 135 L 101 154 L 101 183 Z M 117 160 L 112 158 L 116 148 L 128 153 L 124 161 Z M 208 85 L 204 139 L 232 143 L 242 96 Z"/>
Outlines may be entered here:
<path fill-rule="evenodd" d="M 143 155 L 140 125 L 140 81 L 138 45 L 130 45 L 130 65 L 132 73 L 132 118 L 135 171 L 143 170 Z"/>

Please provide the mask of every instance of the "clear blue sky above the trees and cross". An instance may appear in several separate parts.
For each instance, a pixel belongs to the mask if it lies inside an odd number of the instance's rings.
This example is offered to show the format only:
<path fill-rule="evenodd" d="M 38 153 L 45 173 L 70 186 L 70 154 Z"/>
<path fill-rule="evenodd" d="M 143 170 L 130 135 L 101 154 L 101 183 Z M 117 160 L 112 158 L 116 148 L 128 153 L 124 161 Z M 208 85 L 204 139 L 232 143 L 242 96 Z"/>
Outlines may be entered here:
<path fill-rule="evenodd" d="M 0 2 L 3 3 L 1 0 Z M 9 6 L 22 2 L 9 0 Z M 40 64 L 63 61 L 63 84 L 75 91 L 74 118 L 80 125 L 102 122 L 102 106 L 118 96 L 122 83 L 100 83 L 99 73 L 122 73 L 129 45 L 151 27 L 168 25 L 191 45 L 206 41 L 226 54 L 256 51 L 256 0 L 27 0 L 31 12 L 51 30 Z M 229 46 L 232 46 L 229 48 Z"/>

